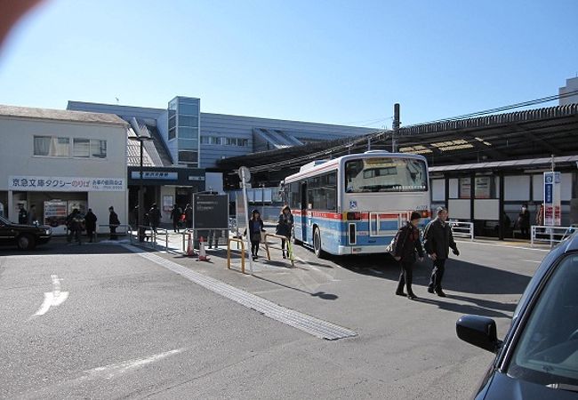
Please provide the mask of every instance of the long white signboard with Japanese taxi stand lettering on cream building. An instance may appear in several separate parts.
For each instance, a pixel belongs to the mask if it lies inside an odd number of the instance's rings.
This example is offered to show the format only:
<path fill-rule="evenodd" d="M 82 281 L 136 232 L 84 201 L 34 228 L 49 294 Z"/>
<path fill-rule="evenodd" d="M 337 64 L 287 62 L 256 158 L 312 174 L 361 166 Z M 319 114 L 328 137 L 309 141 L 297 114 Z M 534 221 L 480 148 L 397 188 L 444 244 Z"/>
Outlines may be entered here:
<path fill-rule="evenodd" d="M 70 176 L 10 176 L 8 190 L 47 192 L 122 192 L 124 178 L 79 178 Z"/>

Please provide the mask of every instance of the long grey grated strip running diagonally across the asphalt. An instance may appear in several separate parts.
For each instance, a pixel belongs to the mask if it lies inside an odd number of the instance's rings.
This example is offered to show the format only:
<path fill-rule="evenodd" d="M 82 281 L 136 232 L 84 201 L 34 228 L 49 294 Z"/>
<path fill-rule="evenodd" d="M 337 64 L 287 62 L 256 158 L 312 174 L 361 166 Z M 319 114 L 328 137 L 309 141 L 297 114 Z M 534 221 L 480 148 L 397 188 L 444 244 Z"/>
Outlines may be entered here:
<path fill-rule="evenodd" d="M 189 268 L 177 264 L 176 262 L 165 260 L 164 258 L 150 252 L 145 252 L 136 246 L 132 246 L 130 244 L 123 245 L 131 252 L 136 252 L 141 257 L 153 261 L 154 263 L 169 269 L 176 274 L 184 276 L 191 282 L 199 284 L 211 292 L 220 294 L 229 300 L 237 301 L 237 303 L 247 308 L 253 308 L 255 311 L 260 312 L 264 316 L 269 316 L 269 318 L 272 318 L 280 323 L 293 326 L 293 328 L 297 328 L 303 332 L 317 336 L 317 338 L 326 340 L 338 340 L 357 336 L 356 332 L 353 332 L 342 326 L 323 321 L 314 316 L 302 314 L 300 312 L 294 311 L 293 309 L 281 307 L 269 300 L 255 296 L 253 293 L 242 291 L 236 287 L 231 286 L 230 284 L 225 284 L 217 279 L 213 279 L 212 277 L 199 274 Z"/>

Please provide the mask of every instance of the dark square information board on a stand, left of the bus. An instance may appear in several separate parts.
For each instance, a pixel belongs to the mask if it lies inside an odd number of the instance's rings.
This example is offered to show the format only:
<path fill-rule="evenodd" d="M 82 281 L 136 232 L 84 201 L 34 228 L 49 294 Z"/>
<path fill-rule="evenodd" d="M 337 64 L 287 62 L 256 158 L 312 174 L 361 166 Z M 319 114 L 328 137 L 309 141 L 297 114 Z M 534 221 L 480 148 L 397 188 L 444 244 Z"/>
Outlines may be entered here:
<path fill-rule="evenodd" d="M 193 228 L 229 229 L 229 196 L 194 195 Z"/>

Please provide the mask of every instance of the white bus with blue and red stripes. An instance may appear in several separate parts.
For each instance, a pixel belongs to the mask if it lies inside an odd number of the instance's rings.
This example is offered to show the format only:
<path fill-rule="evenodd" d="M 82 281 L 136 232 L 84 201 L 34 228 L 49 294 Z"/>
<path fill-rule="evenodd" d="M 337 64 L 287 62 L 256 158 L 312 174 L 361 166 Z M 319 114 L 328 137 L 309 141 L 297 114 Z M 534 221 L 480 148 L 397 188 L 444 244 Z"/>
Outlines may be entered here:
<path fill-rule="evenodd" d="M 317 257 L 385 252 L 413 211 L 429 222 L 428 164 L 423 156 L 368 151 L 303 165 L 285 178 L 295 243 Z"/>

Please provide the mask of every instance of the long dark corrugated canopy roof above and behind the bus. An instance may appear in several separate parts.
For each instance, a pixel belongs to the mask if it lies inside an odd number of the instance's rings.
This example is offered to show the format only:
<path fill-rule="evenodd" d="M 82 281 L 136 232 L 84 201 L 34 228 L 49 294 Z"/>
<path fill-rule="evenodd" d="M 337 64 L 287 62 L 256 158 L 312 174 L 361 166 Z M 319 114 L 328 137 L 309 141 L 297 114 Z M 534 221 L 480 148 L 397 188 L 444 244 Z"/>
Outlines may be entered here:
<path fill-rule="evenodd" d="M 286 176 L 312 160 L 362 153 L 368 143 L 372 150 L 390 150 L 392 133 L 263 151 L 225 158 L 218 165 L 222 171 L 245 165 L 252 172 Z M 577 156 L 578 104 L 406 126 L 399 129 L 397 141 L 400 152 L 421 154 L 429 166 Z"/>

